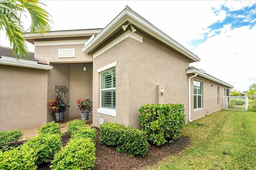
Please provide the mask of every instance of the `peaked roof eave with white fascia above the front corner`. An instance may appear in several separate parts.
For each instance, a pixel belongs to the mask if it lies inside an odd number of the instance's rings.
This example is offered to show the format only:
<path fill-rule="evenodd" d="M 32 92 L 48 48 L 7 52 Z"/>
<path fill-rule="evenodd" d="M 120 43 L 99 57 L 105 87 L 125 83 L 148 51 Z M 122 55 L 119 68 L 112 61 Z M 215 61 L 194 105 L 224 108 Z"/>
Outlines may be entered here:
<path fill-rule="evenodd" d="M 92 54 L 94 49 L 99 47 L 101 43 L 106 41 L 108 37 L 110 37 L 116 30 L 121 30 L 121 26 L 125 23 L 132 23 L 133 26 L 139 28 L 140 30 L 146 32 L 151 35 L 158 41 L 166 44 L 168 47 L 178 51 L 184 56 L 188 57 L 189 62 L 197 62 L 200 61 L 197 55 L 186 49 L 180 43 L 166 35 L 160 29 L 152 25 L 150 22 L 139 16 L 137 13 L 131 10 L 128 6 L 124 8 L 124 10 L 114 18 L 98 35 L 96 35 L 86 46 L 82 49 L 82 51 L 86 54 Z"/>

